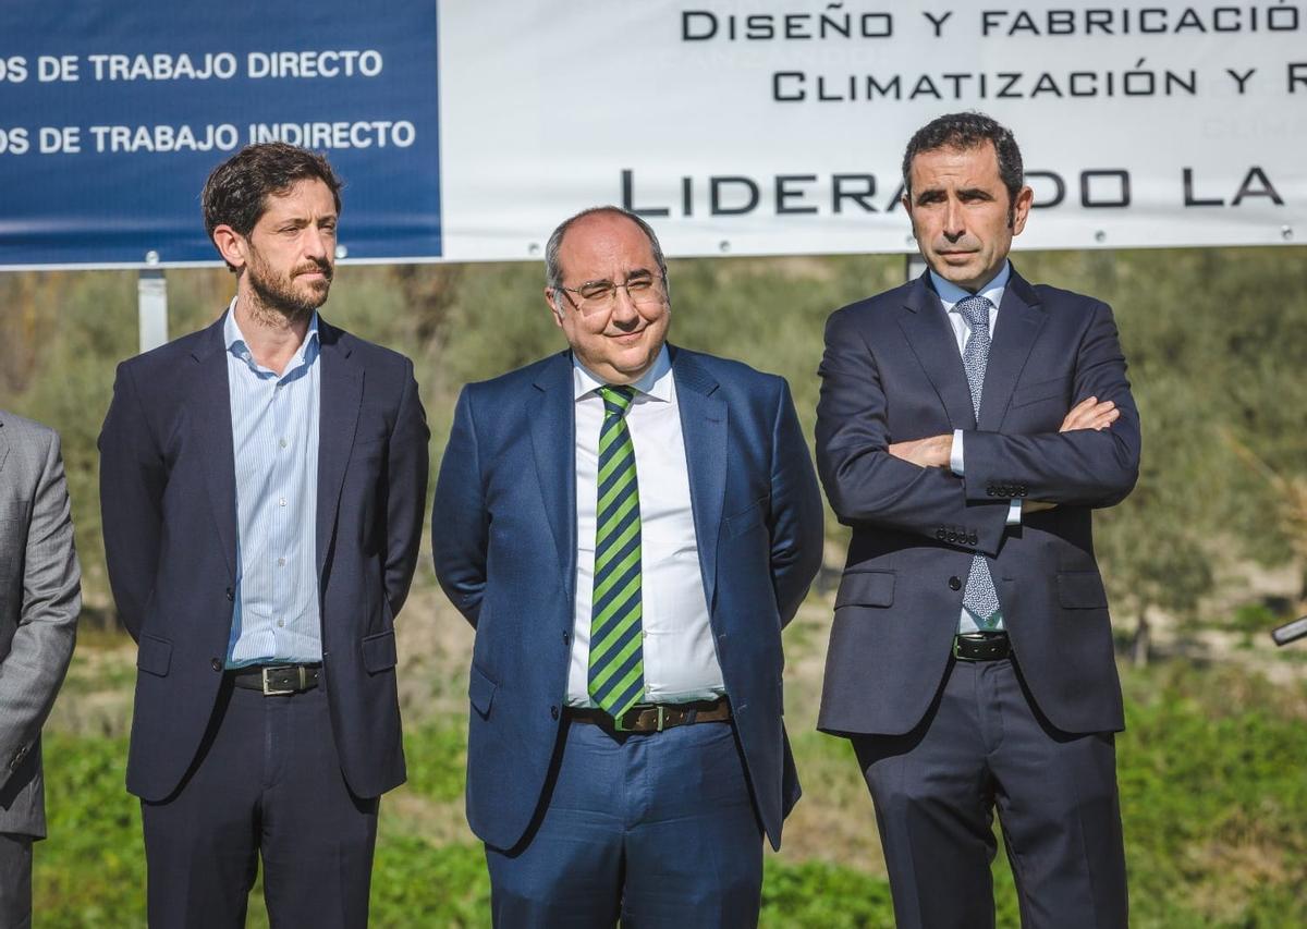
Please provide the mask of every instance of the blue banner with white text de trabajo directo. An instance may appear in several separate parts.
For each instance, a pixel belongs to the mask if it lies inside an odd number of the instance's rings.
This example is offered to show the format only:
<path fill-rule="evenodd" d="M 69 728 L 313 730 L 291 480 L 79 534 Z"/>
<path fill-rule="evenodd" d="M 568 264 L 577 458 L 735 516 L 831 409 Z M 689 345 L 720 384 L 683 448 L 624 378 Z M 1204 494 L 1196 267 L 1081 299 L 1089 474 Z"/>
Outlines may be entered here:
<path fill-rule="evenodd" d="M 4 0 L 0 268 L 217 261 L 243 145 L 327 154 L 349 259 L 442 255 L 437 3 Z"/>

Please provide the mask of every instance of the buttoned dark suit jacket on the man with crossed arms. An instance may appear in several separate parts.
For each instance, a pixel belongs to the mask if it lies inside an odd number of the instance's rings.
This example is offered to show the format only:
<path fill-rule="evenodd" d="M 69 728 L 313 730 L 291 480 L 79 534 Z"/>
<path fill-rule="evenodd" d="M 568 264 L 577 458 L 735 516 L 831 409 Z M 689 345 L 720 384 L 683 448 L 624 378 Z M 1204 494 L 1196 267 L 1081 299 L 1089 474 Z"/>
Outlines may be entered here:
<path fill-rule="evenodd" d="M 852 527 L 835 600 L 818 725 L 899 734 L 938 690 L 972 555 L 992 575 L 1021 672 L 1068 732 L 1124 726 L 1090 515 L 1138 476 L 1140 423 L 1111 310 L 1031 286 L 1004 291 L 975 419 L 957 340 L 928 276 L 835 312 L 826 325 L 817 463 Z M 1121 412 L 1100 432 L 1059 432 L 1089 396 Z M 966 477 L 886 446 L 965 431 Z M 1012 498 L 1057 503 L 1006 528 Z M 959 583 L 961 580 L 961 583 Z"/>

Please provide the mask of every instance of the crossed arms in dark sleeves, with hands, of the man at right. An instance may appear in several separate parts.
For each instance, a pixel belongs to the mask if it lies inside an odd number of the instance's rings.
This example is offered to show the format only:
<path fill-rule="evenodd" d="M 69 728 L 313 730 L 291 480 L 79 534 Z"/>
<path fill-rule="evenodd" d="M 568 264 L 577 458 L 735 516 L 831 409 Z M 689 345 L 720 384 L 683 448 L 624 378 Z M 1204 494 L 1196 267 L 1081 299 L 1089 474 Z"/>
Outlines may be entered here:
<path fill-rule="evenodd" d="M 995 555 L 1009 510 L 1008 499 L 993 495 L 995 485 L 1019 485 L 1026 499 L 1046 504 L 1121 500 L 1138 476 L 1138 413 L 1106 304 L 1093 304 L 1080 342 L 1068 351 L 1074 353 L 1072 396 L 1081 400 L 1061 427 L 1036 434 L 967 430 L 966 473 L 959 477 L 949 469 L 951 434 L 891 440 L 890 397 L 877 354 L 857 316 L 831 316 L 819 368 L 817 465 L 836 516 L 846 525 L 928 538 L 948 528 Z"/>

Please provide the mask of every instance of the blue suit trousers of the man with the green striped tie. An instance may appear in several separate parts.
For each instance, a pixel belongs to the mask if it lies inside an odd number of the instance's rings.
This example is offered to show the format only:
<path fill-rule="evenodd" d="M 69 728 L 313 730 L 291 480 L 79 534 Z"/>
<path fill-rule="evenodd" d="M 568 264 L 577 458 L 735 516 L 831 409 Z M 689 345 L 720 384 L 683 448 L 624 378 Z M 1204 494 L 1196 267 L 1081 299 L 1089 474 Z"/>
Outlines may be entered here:
<path fill-rule="evenodd" d="M 735 726 L 569 724 L 531 831 L 486 862 L 502 929 L 755 926 L 762 827 Z"/>

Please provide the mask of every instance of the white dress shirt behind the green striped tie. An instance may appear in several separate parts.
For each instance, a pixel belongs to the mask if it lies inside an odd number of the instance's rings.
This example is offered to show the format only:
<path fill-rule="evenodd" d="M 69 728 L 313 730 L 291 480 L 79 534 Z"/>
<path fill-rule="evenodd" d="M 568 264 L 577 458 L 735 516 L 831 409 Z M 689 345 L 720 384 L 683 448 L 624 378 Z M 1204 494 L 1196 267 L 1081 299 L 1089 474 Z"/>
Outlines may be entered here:
<path fill-rule="evenodd" d="M 574 361 L 576 399 L 576 604 L 567 706 L 593 707 L 589 698 L 589 619 L 595 592 L 595 510 L 599 503 L 599 432 L 605 384 Z M 708 602 L 699 570 L 699 544 L 690 510 L 690 474 L 667 346 L 643 378 L 626 427 L 635 447 L 640 497 L 640 600 L 644 631 L 643 703 L 687 703 L 725 693 Z"/>

